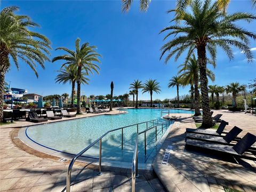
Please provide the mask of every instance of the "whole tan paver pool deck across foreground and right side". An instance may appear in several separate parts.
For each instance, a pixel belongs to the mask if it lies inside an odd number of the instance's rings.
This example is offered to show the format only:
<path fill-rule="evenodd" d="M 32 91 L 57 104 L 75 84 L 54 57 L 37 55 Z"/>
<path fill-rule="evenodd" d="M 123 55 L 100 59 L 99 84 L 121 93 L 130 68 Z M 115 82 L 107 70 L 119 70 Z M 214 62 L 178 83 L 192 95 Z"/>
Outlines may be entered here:
<path fill-rule="evenodd" d="M 237 125 L 244 132 L 255 133 L 256 117 L 243 113 L 222 113 L 228 129 Z M 153 163 L 156 175 L 140 172 L 136 191 L 224 191 L 228 186 L 240 191 L 256 191 L 256 163 L 244 160 L 237 164 L 214 156 L 184 150 L 186 127 L 195 128 L 189 114 L 174 123 Z M 232 121 L 232 122 L 231 122 Z M 4 129 L 2 129 L 4 128 Z M 17 128 L 0 127 L 0 191 L 65 191 L 68 162 L 18 147 Z M 172 145 L 169 165 L 161 166 L 163 154 Z M 130 170 L 113 168 L 98 176 L 97 170 L 74 165 L 71 191 L 131 191 Z M 164 188 L 165 187 L 165 188 Z"/>

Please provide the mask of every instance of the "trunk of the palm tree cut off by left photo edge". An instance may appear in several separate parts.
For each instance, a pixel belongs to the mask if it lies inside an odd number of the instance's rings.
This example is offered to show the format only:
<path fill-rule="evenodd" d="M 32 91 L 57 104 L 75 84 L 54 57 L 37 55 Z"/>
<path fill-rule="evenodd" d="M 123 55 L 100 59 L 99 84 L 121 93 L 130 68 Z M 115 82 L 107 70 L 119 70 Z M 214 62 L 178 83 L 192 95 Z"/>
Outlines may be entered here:
<path fill-rule="evenodd" d="M 4 78 L 7 69 L 10 67 L 10 62 L 8 58 L 8 53 L 5 51 L 0 50 L 0 122 L 3 122 L 4 118 Z"/>

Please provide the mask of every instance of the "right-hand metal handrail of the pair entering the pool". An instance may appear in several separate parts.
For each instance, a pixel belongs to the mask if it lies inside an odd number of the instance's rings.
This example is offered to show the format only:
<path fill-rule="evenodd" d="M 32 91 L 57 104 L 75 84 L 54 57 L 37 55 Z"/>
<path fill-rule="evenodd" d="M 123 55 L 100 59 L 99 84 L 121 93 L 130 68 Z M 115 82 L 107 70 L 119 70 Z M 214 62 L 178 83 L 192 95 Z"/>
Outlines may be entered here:
<path fill-rule="evenodd" d="M 156 126 L 150 127 L 146 130 L 143 130 L 143 131 L 137 133 L 136 140 L 135 140 L 135 147 L 134 147 L 134 151 L 133 151 L 133 158 L 132 158 L 132 192 L 135 192 L 136 178 L 139 177 L 139 173 L 138 173 L 138 138 L 139 138 L 139 135 L 142 133 L 145 133 L 144 145 L 145 145 L 145 156 L 146 156 L 146 154 L 147 154 L 146 132 L 155 128 L 156 129 L 156 141 L 157 141 L 157 126 L 162 125 L 162 133 L 163 133 L 163 125 L 166 124 L 166 127 L 167 127 L 167 122 L 169 122 L 169 126 L 170 126 L 170 121 L 171 121 L 171 119 L 168 119 L 167 121 L 165 121 L 163 123 L 157 124 Z"/>

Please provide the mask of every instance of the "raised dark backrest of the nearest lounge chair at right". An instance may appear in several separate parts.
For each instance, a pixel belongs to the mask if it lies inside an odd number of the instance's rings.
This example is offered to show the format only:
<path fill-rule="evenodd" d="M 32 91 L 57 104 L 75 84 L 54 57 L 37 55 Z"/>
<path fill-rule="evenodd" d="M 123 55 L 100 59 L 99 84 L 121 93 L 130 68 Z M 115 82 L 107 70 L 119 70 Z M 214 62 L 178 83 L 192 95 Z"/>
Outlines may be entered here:
<path fill-rule="evenodd" d="M 246 135 L 244 135 L 244 137 L 238 141 L 233 148 L 236 153 L 242 155 L 244 151 L 253 145 L 254 142 L 256 142 L 256 136 L 251 133 L 246 133 Z"/>

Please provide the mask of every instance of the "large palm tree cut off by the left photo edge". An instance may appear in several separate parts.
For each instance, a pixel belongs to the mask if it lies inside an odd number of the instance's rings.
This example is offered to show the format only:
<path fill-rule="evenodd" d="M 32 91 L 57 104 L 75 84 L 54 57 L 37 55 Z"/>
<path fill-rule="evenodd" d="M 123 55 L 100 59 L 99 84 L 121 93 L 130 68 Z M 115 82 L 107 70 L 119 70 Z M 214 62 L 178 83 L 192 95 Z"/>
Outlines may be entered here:
<path fill-rule="evenodd" d="M 38 77 L 36 63 L 44 69 L 49 61 L 51 42 L 44 35 L 30 31 L 38 25 L 27 15 L 16 15 L 18 7 L 5 7 L 0 13 L 0 122 L 3 121 L 5 75 L 12 60 L 19 69 L 18 59 L 26 63 Z"/>

